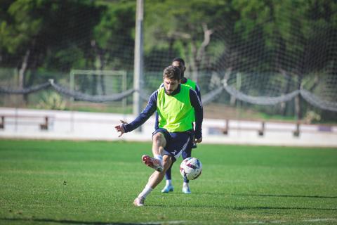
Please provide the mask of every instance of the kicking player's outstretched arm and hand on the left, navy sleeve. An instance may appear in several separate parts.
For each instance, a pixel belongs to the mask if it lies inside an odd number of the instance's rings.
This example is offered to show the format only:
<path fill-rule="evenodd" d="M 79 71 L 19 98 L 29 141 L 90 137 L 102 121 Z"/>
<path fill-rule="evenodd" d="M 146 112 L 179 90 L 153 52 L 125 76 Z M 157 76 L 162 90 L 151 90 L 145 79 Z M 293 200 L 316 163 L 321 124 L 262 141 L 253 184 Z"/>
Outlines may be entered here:
<path fill-rule="evenodd" d="M 128 124 L 121 121 L 121 125 L 114 127 L 117 132 L 121 132 L 119 136 L 137 129 L 150 118 L 150 116 L 157 110 L 157 96 L 158 91 L 154 91 L 142 113 L 140 113 L 133 122 Z"/>

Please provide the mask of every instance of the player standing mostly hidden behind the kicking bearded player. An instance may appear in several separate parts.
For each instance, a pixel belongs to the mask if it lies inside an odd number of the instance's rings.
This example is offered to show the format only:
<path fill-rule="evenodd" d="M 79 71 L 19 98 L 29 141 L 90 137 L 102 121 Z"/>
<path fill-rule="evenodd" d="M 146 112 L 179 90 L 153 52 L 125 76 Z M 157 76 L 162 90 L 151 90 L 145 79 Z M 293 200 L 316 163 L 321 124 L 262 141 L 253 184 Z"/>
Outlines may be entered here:
<path fill-rule="evenodd" d="M 184 72 L 186 70 L 185 67 L 185 61 L 182 58 L 174 58 L 172 60 L 172 65 L 178 67 L 180 69 L 181 72 L 181 77 L 180 77 L 180 84 L 185 85 L 187 87 L 189 87 L 190 89 L 193 89 L 194 91 L 197 92 L 197 95 L 201 101 L 201 94 L 200 94 L 200 89 L 199 86 L 193 82 L 191 79 L 187 79 L 186 77 L 184 77 Z M 194 122 L 194 120 L 193 120 Z M 158 128 L 158 114 L 156 114 L 156 122 L 154 125 L 155 129 Z M 191 139 L 190 143 L 188 144 L 188 146 L 186 147 L 186 149 L 183 151 L 182 156 L 183 159 L 185 160 L 185 158 L 190 158 L 192 155 L 192 148 L 197 148 L 196 144 L 194 143 L 194 140 Z M 166 185 L 164 186 L 164 188 L 161 190 L 161 193 L 169 193 L 170 191 L 173 191 L 173 185 L 172 185 L 172 166 L 173 163 L 171 164 L 171 167 L 169 167 L 169 169 L 167 169 L 166 174 L 165 174 L 165 178 L 166 178 Z M 190 184 L 189 184 L 189 180 L 187 180 L 186 178 L 184 178 L 184 182 L 183 182 L 183 189 L 182 189 L 183 193 L 185 194 L 190 194 Z"/>

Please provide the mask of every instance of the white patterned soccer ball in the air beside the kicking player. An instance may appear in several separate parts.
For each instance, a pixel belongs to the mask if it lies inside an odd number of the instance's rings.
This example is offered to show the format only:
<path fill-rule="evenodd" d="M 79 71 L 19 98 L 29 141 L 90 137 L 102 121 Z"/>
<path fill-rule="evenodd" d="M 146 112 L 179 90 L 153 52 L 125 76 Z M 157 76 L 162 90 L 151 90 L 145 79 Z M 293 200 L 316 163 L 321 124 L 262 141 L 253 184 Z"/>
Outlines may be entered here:
<path fill-rule="evenodd" d="M 201 174 L 201 170 L 202 164 L 197 158 L 186 158 L 180 164 L 180 174 L 184 178 L 186 177 L 187 180 L 197 179 Z"/>

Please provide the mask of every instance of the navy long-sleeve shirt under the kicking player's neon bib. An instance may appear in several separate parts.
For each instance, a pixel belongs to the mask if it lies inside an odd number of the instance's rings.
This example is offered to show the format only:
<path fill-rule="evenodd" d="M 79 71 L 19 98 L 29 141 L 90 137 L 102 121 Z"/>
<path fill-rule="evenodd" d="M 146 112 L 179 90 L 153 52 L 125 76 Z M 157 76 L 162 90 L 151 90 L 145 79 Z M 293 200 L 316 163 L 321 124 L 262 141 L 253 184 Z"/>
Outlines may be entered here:
<path fill-rule="evenodd" d="M 179 92 L 180 92 L 180 84 L 176 89 L 176 91 L 173 91 L 172 95 L 178 94 Z M 138 117 L 136 117 L 136 119 L 133 120 L 133 122 L 129 124 L 123 124 L 124 130 L 126 132 L 130 132 L 133 131 L 134 129 L 137 129 L 151 117 L 151 115 L 157 110 L 157 96 L 158 90 L 152 93 L 146 107 L 144 108 L 142 113 L 140 113 L 140 115 L 138 115 Z M 204 117 L 203 108 L 201 101 L 197 96 L 197 92 L 192 89 L 190 89 L 190 101 L 192 107 L 194 108 L 195 113 L 194 136 L 196 139 L 200 139 L 202 136 L 201 125 Z"/>

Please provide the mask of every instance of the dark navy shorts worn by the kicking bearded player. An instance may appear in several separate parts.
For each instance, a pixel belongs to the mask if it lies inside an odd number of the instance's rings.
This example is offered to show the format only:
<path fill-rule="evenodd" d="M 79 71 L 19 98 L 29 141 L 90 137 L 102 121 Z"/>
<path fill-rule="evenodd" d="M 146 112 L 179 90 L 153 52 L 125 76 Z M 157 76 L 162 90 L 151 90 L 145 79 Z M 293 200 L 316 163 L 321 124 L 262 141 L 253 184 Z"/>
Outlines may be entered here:
<path fill-rule="evenodd" d="M 173 162 L 190 147 L 191 131 L 169 132 L 164 128 L 159 128 L 152 133 L 152 137 L 157 133 L 164 134 L 166 140 L 164 155 L 171 156 Z"/>

